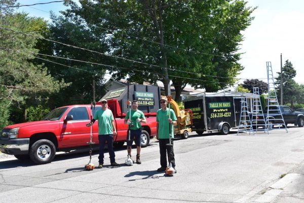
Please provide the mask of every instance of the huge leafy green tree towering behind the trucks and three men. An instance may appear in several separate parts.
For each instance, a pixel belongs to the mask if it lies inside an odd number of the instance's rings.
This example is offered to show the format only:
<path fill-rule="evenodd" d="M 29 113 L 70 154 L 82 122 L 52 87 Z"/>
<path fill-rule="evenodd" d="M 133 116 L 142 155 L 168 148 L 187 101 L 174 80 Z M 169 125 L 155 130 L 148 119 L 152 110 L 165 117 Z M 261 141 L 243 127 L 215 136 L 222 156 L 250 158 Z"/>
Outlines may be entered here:
<path fill-rule="evenodd" d="M 162 81 L 166 94 L 171 80 L 175 99 L 179 100 L 186 84 L 216 91 L 233 84 L 243 70 L 237 53 L 243 40 L 240 32 L 250 25 L 254 10 L 244 1 L 102 0 L 81 1 L 80 6 L 72 1 L 65 4 L 70 7 L 62 12 L 66 18 L 74 24 L 81 22 L 101 47 L 108 45 L 104 53 L 115 56 L 106 59 L 115 65 L 108 68 L 114 79 L 128 75 L 138 83 Z"/>

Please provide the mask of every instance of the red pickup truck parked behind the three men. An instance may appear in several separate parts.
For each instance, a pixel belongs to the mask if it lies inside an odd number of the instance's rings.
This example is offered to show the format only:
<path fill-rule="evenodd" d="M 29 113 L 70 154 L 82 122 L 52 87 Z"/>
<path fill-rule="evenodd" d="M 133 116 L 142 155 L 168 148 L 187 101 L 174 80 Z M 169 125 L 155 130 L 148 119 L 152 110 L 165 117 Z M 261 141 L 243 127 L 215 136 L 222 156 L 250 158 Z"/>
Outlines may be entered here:
<path fill-rule="evenodd" d="M 124 124 L 117 99 L 108 100 L 109 109 L 115 117 L 117 136 L 115 146 L 123 146 L 127 139 L 128 125 Z M 96 105 L 93 115 L 101 109 Z M 145 113 L 146 124 L 142 124 L 142 147 L 156 135 L 156 113 Z M 72 105 L 54 109 L 42 121 L 19 123 L 6 126 L 0 135 L 0 151 L 18 159 L 30 158 L 37 164 L 49 163 L 56 151 L 70 151 L 88 147 L 90 141 L 91 105 Z M 98 122 L 93 126 L 93 142 L 98 144 Z"/>

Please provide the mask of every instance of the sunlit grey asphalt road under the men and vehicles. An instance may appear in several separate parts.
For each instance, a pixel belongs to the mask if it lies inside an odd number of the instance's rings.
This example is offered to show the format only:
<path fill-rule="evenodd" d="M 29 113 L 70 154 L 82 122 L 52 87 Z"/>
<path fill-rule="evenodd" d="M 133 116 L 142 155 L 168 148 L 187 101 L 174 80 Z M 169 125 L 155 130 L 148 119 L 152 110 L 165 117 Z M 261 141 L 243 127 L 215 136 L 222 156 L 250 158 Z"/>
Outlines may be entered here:
<path fill-rule="evenodd" d="M 176 139 L 174 152 L 173 177 L 156 171 L 157 141 L 142 149 L 142 164 L 126 166 L 124 146 L 116 151 L 121 166 L 105 153 L 105 167 L 93 171 L 84 171 L 87 152 L 44 165 L 0 155 L 0 202 L 303 202 L 304 128 L 195 134 Z"/>

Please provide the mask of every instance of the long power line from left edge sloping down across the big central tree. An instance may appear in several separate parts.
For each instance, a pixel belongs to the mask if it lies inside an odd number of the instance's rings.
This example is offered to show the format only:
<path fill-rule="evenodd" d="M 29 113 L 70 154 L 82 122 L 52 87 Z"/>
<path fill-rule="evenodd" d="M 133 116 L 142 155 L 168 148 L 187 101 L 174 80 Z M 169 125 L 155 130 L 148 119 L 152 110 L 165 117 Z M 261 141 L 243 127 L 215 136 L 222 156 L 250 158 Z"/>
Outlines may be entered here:
<path fill-rule="evenodd" d="M 77 46 L 74 46 L 74 45 L 68 45 L 68 44 L 65 44 L 65 43 L 62 43 L 62 42 L 57 42 L 57 41 L 50 40 L 50 39 L 46 39 L 46 38 L 43 38 L 43 37 L 32 36 L 32 35 L 29 35 L 29 34 L 27 34 L 27 33 L 20 32 L 20 31 L 15 31 L 15 30 L 10 29 L 10 28 L 4 28 L 4 27 L 0 27 L 0 28 L 6 29 L 6 30 L 10 30 L 10 31 L 14 31 L 14 32 L 16 32 L 16 33 L 21 33 L 21 34 L 24 34 L 24 35 L 27 35 L 27 36 L 31 36 L 31 37 L 34 37 L 34 38 L 39 38 L 39 39 L 43 39 L 43 40 L 46 40 L 46 41 L 54 42 L 54 43 L 61 44 L 61 45 L 67 46 L 67 47 L 72 47 L 72 48 L 76 48 L 76 49 L 81 49 L 81 50 L 85 50 L 85 51 L 89 51 L 89 52 L 93 52 L 93 53 L 98 53 L 98 54 L 105 55 L 105 56 L 109 56 L 109 57 L 115 57 L 115 58 L 119 58 L 119 59 L 123 59 L 123 60 L 130 61 L 130 62 L 136 62 L 136 63 L 148 65 L 148 66 L 160 67 L 161 69 L 166 69 L 166 67 L 163 67 L 163 66 L 160 66 L 160 65 L 154 65 L 154 64 L 149 64 L 149 63 L 145 63 L 145 62 L 135 61 L 135 60 L 131 60 L 131 59 L 119 57 L 119 56 L 112 56 L 112 55 L 109 55 L 109 54 L 101 53 L 101 52 L 98 52 L 98 51 L 93 51 L 93 50 L 86 49 L 86 48 L 82 48 L 82 47 L 77 47 Z M 182 72 L 182 73 L 187 73 L 187 74 L 195 74 L 195 75 L 198 75 L 198 73 L 193 73 L 193 72 L 187 72 L 187 71 L 181 71 L 181 70 L 171 69 L 171 68 L 169 68 L 169 67 L 167 67 L 167 70 L 177 71 L 177 72 Z M 165 75 L 164 75 L 164 76 L 165 76 Z M 225 79 L 230 79 L 230 78 L 228 78 L 228 77 L 211 76 L 211 75 L 205 75 L 205 74 L 202 74 L 202 76 L 208 76 L 208 77 L 214 77 L 214 78 L 225 78 Z M 232 79 L 246 80 L 246 79 L 244 79 L 244 78 L 232 78 Z M 202 80 L 202 81 L 204 81 L 204 80 Z"/>

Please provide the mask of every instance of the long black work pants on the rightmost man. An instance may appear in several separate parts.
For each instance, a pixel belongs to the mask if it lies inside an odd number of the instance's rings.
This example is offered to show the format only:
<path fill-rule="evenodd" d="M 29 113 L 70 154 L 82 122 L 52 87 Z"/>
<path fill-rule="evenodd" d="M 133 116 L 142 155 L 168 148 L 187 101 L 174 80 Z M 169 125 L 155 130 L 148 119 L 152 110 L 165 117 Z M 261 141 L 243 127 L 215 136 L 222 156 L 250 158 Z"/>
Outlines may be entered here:
<path fill-rule="evenodd" d="M 159 144 L 160 144 L 161 166 L 167 167 L 167 155 L 168 155 L 169 164 L 171 162 L 172 167 L 175 168 L 173 140 L 171 139 L 172 146 L 167 146 L 167 144 L 169 144 L 169 139 L 159 139 Z"/>

